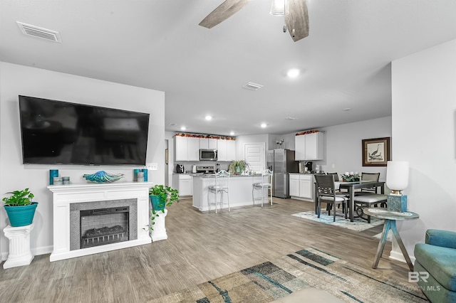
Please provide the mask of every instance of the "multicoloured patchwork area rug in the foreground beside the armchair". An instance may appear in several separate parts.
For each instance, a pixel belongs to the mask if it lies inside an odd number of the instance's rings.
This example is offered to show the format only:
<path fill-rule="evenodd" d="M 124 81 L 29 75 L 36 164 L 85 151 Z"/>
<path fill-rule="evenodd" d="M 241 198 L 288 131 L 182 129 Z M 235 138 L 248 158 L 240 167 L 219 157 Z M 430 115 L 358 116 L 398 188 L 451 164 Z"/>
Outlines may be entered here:
<path fill-rule="evenodd" d="M 152 302 L 262 303 L 306 287 L 323 289 L 346 302 L 427 302 L 415 283 L 395 281 L 380 270 L 359 267 L 315 248 L 299 250 Z"/>

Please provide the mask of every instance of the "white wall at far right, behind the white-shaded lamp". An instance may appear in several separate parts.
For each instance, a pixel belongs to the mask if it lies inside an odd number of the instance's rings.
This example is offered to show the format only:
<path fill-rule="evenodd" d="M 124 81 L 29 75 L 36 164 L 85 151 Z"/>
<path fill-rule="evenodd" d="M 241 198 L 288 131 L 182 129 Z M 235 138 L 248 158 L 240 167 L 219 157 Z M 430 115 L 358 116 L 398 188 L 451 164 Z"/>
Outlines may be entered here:
<path fill-rule="evenodd" d="M 392 65 L 393 158 L 410 162 L 404 192 L 409 210 L 420 215 L 398 224 L 411 257 L 428 228 L 456 231 L 455 53 L 453 40 Z"/>

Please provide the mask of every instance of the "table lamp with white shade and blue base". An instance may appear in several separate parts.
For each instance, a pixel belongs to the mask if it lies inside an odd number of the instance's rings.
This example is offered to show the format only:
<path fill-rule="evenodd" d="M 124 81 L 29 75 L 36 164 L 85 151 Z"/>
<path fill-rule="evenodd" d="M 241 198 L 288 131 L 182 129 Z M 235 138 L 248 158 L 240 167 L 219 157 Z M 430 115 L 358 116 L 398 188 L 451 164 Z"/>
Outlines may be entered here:
<path fill-rule="evenodd" d="M 388 161 L 386 164 L 386 186 L 391 190 L 386 200 L 388 211 L 399 213 L 407 211 L 407 196 L 401 193 L 408 186 L 407 161 Z"/>

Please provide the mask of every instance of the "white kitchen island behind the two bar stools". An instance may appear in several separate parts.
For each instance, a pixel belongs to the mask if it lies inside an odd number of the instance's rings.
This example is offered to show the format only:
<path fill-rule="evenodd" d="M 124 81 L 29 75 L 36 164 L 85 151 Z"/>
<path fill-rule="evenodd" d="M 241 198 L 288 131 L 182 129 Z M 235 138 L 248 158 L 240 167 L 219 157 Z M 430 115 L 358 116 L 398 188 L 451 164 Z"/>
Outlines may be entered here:
<path fill-rule="evenodd" d="M 252 201 L 252 186 L 254 183 L 261 182 L 261 175 L 234 175 L 229 177 L 229 207 L 237 206 L 253 206 Z M 194 175 L 193 176 L 193 206 L 198 208 L 199 211 L 209 211 L 207 203 L 207 188 L 215 184 L 214 174 Z M 267 197 L 266 189 L 264 196 Z M 260 191 L 255 191 L 255 197 L 260 196 Z M 215 195 L 209 195 L 209 199 L 213 202 Z M 226 199 L 226 195 L 224 196 Z M 260 205 L 261 201 L 257 201 L 256 205 Z M 223 204 L 223 208 L 228 208 L 227 203 Z M 211 210 L 214 210 L 214 204 Z"/>

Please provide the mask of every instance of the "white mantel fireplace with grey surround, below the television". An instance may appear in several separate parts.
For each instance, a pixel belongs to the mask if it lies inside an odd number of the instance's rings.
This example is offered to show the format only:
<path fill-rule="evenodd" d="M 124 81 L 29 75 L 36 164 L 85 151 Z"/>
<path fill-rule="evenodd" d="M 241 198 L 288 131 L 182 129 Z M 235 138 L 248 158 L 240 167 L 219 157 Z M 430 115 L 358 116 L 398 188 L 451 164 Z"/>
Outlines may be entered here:
<path fill-rule="evenodd" d="M 53 251 L 50 257 L 51 262 L 152 243 L 149 235 L 150 187 L 152 187 L 150 182 L 48 186 L 48 189 L 53 193 Z M 83 224 L 81 221 L 92 217 L 90 211 L 93 215 L 94 212 L 105 212 L 108 209 L 110 215 L 119 217 L 114 219 L 117 223 L 105 223 L 104 226 L 95 226 L 92 223 L 92 227 L 81 229 L 81 224 Z M 105 215 L 103 214 L 103 216 Z M 128 232 L 111 233 L 111 235 L 100 235 L 100 237 L 96 237 L 94 234 L 108 231 L 103 228 L 120 230 L 116 227 L 117 225 L 128 230 Z M 95 236 L 90 236 L 90 233 L 87 235 L 90 229 L 93 229 L 91 235 Z M 81 246 L 81 240 L 86 244 Z"/>

